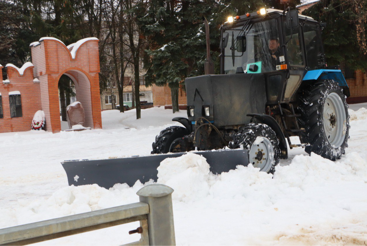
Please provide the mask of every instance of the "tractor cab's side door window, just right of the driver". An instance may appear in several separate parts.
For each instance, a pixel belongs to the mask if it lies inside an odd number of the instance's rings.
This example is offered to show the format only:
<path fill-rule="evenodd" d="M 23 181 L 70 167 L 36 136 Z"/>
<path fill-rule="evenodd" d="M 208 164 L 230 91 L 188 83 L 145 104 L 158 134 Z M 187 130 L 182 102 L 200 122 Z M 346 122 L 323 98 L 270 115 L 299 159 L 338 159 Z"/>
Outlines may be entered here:
<path fill-rule="evenodd" d="M 291 66 L 302 66 L 304 67 L 304 57 L 301 48 L 301 36 L 299 33 L 301 32 L 301 26 L 296 28 L 288 29 L 287 23 L 284 23 L 285 33 L 286 33 L 286 42 L 289 40 L 287 44 L 287 55 L 288 61 Z"/>

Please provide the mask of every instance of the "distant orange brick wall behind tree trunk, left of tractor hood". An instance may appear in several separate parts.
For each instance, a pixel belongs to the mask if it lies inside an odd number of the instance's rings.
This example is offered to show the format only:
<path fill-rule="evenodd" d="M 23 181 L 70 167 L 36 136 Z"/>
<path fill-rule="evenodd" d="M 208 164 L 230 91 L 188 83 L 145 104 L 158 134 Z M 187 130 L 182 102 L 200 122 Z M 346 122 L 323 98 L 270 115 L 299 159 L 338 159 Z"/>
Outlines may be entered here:
<path fill-rule="evenodd" d="M 153 105 L 154 106 L 165 106 L 172 105 L 171 89 L 168 85 L 156 86 L 153 85 Z M 186 105 L 186 92 L 181 87 L 178 90 L 178 104 Z"/>

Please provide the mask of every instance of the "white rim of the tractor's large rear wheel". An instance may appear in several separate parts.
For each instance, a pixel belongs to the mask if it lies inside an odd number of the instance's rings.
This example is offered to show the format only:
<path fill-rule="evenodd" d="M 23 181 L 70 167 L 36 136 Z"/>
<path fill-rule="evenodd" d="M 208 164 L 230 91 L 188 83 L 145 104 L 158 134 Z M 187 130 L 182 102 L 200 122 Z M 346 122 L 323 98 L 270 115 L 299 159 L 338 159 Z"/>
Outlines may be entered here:
<path fill-rule="evenodd" d="M 327 141 L 335 148 L 339 148 L 346 134 L 346 113 L 340 96 L 330 93 L 324 104 L 323 124 Z"/>

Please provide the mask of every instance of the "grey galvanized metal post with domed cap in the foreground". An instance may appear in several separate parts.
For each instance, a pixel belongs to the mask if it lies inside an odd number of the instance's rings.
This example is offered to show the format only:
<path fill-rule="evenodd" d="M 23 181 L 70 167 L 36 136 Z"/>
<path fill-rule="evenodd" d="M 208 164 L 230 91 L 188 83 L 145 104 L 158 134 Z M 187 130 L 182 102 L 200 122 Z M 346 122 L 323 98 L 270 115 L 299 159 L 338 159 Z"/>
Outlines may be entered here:
<path fill-rule="evenodd" d="M 137 192 L 139 200 L 149 204 L 147 216 L 150 246 L 176 245 L 172 192 L 173 189 L 164 184 L 149 184 Z"/>

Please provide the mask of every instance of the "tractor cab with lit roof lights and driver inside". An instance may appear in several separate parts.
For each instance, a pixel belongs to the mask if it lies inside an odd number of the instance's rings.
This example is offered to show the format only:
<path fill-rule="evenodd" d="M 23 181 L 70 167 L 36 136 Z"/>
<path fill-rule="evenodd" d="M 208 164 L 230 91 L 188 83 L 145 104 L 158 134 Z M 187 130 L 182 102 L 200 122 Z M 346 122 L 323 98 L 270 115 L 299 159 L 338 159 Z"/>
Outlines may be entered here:
<path fill-rule="evenodd" d="M 293 101 L 306 71 L 326 67 L 320 24 L 296 10 L 231 16 L 220 48 L 221 74 L 264 74 L 268 104 Z"/>

